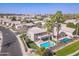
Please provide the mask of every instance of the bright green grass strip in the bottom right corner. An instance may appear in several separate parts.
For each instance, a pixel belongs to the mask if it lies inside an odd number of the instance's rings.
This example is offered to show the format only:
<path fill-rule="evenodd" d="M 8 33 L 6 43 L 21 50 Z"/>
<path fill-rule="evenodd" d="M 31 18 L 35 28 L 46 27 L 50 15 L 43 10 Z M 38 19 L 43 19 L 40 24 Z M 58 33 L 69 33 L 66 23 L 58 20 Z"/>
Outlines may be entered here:
<path fill-rule="evenodd" d="M 56 52 L 56 55 L 57 56 L 65 56 L 65 55 L 68 55 L 68 54 L 71 54 L 73 52 L 75 52 L 76 50 L 79 49 L 79 41 L 73 43 L 72 45 L 69 45 L 59 51 Z"/>

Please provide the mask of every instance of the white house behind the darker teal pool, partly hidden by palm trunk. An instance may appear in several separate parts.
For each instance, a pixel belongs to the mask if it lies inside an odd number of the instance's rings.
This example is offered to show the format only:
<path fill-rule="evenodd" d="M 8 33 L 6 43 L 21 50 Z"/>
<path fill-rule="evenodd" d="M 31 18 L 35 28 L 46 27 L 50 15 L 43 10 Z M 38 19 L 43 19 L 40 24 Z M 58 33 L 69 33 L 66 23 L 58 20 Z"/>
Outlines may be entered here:
<path fill-rule="evenodd" d="M 73 32 L 74 31 L 75 31 L 75 29 L 66 27 L 66 24 L 61 24 L 61 28 L 60 28 L 59 34 L 61 32 L 64 32 L 68 36 L 73 36 Z M 54 27 L 54 36 L 57 36 L 57 27 Z"/>

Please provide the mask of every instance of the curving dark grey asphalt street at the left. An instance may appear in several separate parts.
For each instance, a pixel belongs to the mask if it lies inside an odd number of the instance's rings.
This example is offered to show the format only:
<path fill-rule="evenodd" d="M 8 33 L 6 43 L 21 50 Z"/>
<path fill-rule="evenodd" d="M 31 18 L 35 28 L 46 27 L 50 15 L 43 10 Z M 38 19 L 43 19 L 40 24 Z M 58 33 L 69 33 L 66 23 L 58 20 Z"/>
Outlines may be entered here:
<path fill-rule="evenodd" d="M 15 34 L 9 29 L 6 29 L 1 26 L 0 26 L 0 31 L 2 31 L 3 34 L 3 42 L 2 42 L 2 49 L 0 55 L 22 56 L 21 47 Z"/>

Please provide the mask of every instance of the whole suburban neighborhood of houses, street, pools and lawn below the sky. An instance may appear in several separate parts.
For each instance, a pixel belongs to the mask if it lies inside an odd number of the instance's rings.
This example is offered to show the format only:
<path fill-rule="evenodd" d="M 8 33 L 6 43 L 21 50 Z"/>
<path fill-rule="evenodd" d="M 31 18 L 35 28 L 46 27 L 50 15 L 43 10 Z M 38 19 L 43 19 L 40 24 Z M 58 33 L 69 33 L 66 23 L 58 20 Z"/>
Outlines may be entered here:
<path fill-rule="evenodd" d="M 0 56 L 79 56 L 79 14 L 0 13 Z"/>

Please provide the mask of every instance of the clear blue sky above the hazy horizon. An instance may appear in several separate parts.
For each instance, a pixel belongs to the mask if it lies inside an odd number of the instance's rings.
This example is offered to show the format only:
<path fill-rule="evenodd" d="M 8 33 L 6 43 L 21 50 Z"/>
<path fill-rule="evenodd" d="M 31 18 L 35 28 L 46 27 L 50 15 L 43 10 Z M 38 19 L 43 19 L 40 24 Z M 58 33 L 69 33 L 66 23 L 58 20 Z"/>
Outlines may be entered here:
<path fill-rule="evenodd" d="M 79 13 L 79 3 L 0 3 L 0 13 L 9 14 Z"/>

